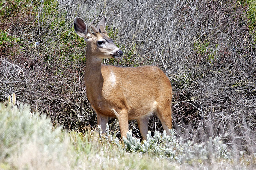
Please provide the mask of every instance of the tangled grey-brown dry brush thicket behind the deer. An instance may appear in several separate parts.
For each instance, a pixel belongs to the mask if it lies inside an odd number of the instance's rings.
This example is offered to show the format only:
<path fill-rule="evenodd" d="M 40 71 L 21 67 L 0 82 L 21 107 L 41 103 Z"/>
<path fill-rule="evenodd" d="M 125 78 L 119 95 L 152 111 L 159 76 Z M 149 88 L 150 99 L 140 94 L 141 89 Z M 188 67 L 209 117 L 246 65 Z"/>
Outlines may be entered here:
<path fill-rule="evenodd" d="M 159 66 L 173 87 L 178 135 L 193 142 L 222 136 L 232 147 L 255 152 L 256 22 L 249 2 L 0 1 L 0 101 L 14 92 L 56 125 L 95 127 L 83 78 L 86 44 L 73 20 L 79 16 L 90 25 L 105 15 L 124 56 L 104 63 Z M 119 129 L 116 119 L 109 124 Z M 140 137 L 135 121 L 130 129 Z M 156 116 L 149 129 L 162 130 Z"/>

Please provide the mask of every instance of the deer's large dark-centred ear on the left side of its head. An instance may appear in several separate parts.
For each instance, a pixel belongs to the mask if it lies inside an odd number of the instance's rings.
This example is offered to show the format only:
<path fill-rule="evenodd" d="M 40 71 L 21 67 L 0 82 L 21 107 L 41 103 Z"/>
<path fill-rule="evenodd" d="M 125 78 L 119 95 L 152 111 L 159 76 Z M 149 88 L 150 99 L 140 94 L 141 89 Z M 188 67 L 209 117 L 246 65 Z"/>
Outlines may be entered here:
<path fill-rule="evenodd" d="M 89 29 L 83 19 L 81 19 L 79 17 L 75 17 L 74 28 L 75 28 L 76 33 L 80 37 L 83 37 L 85 40 L 88 39 L 87 37 L 88 37 L 88 35 L 90 35 Z"/>

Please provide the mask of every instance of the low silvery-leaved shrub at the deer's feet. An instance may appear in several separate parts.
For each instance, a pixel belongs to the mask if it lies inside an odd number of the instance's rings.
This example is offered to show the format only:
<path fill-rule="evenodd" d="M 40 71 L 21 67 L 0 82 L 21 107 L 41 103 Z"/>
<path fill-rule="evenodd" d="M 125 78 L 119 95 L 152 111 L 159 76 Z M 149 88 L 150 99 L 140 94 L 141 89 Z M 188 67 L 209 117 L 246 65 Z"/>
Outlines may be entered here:
<path fill-rule="evenodd" d="M 153 153 L 179 163 L 196 160 L 231 159 L 231 153 L 227 149 L 227 144 L 222 143 L 221 137 L 215 137 L 214 139 L 209 137 L 207 142 L 194 144 L 190 140 L 184 141 L 181 137 L 178 138 L 173 129 L 170 129 L 170 133 L 171 136 L 167 135 L 165 130 L 163 134 L 155 131 L 152 137 L 151 132 L 148 131 L 147 140 L 140 142 L 140 139 L 133 137 L 131 132 L 127 132 L 127 138 L 123 138 L 125 149 L 130 152 Z M 116 143 L 121 149 L 120 141 L 109 132 L 108 126 L 105 139 Z"/>

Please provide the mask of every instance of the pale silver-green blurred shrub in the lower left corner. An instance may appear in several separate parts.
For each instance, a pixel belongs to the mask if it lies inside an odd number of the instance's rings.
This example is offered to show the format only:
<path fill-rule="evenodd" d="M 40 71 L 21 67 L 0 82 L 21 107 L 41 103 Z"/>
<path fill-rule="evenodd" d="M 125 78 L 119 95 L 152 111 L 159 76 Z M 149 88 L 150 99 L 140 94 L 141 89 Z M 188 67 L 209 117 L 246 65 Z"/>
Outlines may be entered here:
<path fill-rule="evenodd" d="M 13 161 L 17 164 L 27 161 L 25 164 L 30 167 L 28 164 L 34 159 L 36 166 L 40 166 L 41 161 L 56 167 L 58 165 L 52 165 L 53 160 L 66 161 L 63 155 L 68 141 L 61 140 L 62 128 L 53 129 L 46 115 L 31 113 L 28 105 L 17 108 L 10 102 L 7 106 L 0 103 L 0 127 L 0 162 L 6 158 L 17 159 Z"/>

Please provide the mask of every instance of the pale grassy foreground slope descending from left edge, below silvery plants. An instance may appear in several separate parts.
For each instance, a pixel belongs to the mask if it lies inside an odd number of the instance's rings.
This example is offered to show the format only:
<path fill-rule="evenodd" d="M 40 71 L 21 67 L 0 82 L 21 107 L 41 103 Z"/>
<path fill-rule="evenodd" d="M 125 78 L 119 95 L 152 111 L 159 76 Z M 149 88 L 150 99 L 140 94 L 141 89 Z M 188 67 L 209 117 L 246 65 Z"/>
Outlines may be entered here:
<path fill-rule="evenodd" d="M 175 169 L 167 159 L 119 150 L 98 133 L 53 127 L 50 119 L 0 103 L 0 169 Z"/>

